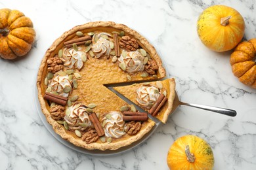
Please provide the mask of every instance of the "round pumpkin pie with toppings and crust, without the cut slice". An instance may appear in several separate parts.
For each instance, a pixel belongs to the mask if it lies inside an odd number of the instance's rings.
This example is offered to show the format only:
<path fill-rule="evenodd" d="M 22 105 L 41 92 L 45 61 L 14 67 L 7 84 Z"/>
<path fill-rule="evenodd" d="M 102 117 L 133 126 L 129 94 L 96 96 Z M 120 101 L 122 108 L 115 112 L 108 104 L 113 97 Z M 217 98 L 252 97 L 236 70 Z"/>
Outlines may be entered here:
<path fill-rule="evenodd" d="M 154 122 L 104 85 L 163 77 L 160 57 L 139 33 L 123 24 L 91 22 L 65 32 L 47 50 L 37 75 L 38 98 L 63 139 L 89 150 L 116 150 L 138 141 Z"/>

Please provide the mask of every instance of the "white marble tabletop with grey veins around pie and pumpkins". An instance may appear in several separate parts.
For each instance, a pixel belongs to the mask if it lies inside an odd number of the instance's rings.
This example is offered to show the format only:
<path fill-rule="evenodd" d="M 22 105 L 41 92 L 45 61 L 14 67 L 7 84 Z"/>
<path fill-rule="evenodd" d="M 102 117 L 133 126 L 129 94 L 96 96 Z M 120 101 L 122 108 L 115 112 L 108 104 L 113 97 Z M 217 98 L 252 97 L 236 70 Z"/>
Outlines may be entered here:
<path fill-rule="evenodd" d="M 238 10 L 245 19 L 245 37 L 256 37 L 256 6 L 249 0 L 1 1 L 0 9 L 29 16 L 37 37 L 26 58 L 0 59 L 0 169 L 167 169 L 169 146 L 186 134 L 212 146 L 215 169 L 256 169 L 256 90 L 232 75 L 231 52 L 212 52 L 196 33 L 199 14 L 215 4 Z M 37 114 L 37 67 L 64 31 L 97 20 L 128 25 L 156 46 L 182 101 L 234 109 L 237 116 L 179 107 L 145 143 L 116 156 L 90 156 L 60 144 Z"/>

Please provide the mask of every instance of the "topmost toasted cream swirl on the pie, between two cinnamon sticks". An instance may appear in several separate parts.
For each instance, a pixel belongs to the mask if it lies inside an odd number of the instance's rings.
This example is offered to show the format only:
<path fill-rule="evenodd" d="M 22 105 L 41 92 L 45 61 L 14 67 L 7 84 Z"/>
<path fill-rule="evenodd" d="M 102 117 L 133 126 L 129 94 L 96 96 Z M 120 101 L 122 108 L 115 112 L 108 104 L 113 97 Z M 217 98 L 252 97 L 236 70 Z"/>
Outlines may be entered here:
<path fill-rule="evenodd" d="M 101 37 L 101 35 L 107 35 L 111 37 L 108 33 L 99 33 L 93 35 L 93 46 L 91 46 L 91 50 L 95 53 L 95 58 L 100 58 L 102 56 L 109 56 L 110 55 L 110 41 Z M 95 42 L 95 36 L 97 36 L 98 41 Z"/>

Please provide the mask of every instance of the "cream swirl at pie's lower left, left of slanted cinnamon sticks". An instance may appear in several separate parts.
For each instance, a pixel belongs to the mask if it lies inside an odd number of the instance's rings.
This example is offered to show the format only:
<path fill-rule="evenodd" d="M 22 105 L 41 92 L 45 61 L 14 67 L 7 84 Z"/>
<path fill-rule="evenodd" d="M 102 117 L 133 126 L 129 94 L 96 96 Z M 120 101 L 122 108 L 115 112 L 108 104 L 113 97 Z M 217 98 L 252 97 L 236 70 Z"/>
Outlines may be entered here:
<path fill-rule="evenodd" d="M 64 120 L 68 123 L 70 129 L 84 131 L 87 127 L 91 126 L 91 120 L 84 105 L 74 103 L 68 109 L 70 110 L 70 114 L 66 115 Z"/>

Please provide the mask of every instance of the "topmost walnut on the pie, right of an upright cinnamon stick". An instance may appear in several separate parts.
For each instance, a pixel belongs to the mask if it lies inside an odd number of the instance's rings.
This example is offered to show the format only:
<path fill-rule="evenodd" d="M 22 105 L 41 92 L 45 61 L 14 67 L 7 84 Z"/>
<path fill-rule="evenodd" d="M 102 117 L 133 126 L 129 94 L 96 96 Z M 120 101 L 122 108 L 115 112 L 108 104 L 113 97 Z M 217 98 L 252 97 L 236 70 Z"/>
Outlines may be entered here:
<path fill-rule="evenodd" d="M 119 41 L 119 46 L 121 46 L 121 48 L 124 48 L 128 52 L 135 51 L 139 48 L 137 40 L 129 37 L 128 35 L 121 37 Z"/>

